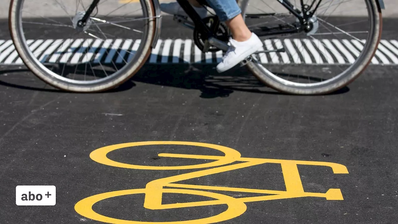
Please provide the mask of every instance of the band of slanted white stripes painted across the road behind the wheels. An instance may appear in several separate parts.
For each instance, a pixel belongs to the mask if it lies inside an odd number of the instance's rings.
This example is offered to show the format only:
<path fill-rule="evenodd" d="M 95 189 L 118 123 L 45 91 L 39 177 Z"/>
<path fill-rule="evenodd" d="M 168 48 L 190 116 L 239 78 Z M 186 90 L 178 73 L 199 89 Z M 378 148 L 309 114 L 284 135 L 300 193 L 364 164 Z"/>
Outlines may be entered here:
<path fill-rule="evenodd" d="M 115 63 L 133 59 L 140 39 L 37 39 L 27 40 L 33 55 L 42 63 Z M 349 65 L 363 50 L 365 40 L 357 39 L 266 39 L 262 50 L 285 48 L 285 52 L 260 53 L 264 64 Z M 221 61 L 222 51 L 203 53 L 191 39 L 159 39 L 147 61 L 149 64 Z M 21 58 L 11 40 L 0 40 L 0 64 L 20 65 Z M 374 65 L 398 65 L 398 41 L 381 40 Z"/>

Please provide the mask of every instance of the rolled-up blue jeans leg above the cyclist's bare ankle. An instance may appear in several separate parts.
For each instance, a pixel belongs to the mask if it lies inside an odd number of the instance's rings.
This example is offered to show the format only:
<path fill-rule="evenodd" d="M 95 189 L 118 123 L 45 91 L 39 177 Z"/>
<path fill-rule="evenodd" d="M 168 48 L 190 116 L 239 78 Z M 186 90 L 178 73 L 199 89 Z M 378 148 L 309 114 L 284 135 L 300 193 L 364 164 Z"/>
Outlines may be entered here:
<path fill-rule="evenodd" d="M 206 2 L 213 8 L 221 22 L 230 20 L 242 12 L 236 0 L 206 0 Z"/>

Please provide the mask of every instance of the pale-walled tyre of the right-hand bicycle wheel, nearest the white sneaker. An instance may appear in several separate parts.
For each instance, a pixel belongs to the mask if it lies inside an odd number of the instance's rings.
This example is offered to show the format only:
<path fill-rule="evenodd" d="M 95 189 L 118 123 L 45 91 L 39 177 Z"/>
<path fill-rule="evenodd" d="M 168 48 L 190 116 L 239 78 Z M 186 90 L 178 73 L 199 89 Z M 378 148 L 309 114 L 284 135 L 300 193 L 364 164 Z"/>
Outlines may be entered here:
<path fill-rule="evenodd" d="M 245 15 L 245 10 L 247 8 L 248 2 L 250 0 L 239 0 L 238 4 L 242 9 L 242 15 Z M 254 60 L 246 64 L 248 70 L 250 70 L 253 75 L 265 85 L 279 91 L 288 94 L 301 94 L 301 95 L 319 95 L 328 94 L 334 92 L 347 86 L 353 82 L 359 75 L 365 71 L 369 63 L 371 62 L 373 56 L 377 51 L 377 46 L 381 39 L 382 33 L 382 14 L 379 2 L 377 0 L 365 0 L 368 6 L 369 16 L 372 20 L 372 34 L 369 35 L 367 39 L 366 51 L 363 51 L 361 55 L 357 58 L 355 63 L 353 63 L 349 69 L 339 74 L 333 78 L 330 82 L 314 85 L 311 87 L 302 87 L 295 84 L 289 83 L 288 81 L 283 81 L 278 79 L 276 75 L 273 75 L 267 69 L 259 67 L 258 61 Z M 369 41 L 369 42 L 368 42 Z M 359 63 L 358 63 L 359 62 Z"/>

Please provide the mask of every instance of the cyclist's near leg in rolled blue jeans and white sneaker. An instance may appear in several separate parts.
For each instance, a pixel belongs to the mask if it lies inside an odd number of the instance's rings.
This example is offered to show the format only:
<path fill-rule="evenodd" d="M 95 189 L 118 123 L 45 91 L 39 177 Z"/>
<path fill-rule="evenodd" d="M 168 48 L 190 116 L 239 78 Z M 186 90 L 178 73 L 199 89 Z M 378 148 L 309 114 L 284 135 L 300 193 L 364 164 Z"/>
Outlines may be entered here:
<path fill-rule="evenodd" d="M 230 48 L 217 65 L 218 72 L 231 69 L 263 46 L 258 36 L 246 26 L 236 0 L 206 0 L 221 22 L 231 30 Z"/>

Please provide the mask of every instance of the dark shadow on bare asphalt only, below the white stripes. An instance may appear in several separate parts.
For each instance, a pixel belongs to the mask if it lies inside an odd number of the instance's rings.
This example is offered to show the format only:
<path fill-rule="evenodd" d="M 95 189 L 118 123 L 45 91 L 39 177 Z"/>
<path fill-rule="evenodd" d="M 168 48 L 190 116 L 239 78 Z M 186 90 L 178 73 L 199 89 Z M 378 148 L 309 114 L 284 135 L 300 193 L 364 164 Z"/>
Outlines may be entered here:
<path fill-rule="evenodd" d="M 233 68 L 225 73 L 217 73 L 215 65 L 144 65 L 130 80 L 117 88 L 105 92 L 121 92 L 136 86 L 135 82 L 171 86 L 184 89 L 201 91 L 201 98 L 228 97 L 234 91 L 254 92 L 260 94 L 280 94 L 272 88 L 265 86 L 254 77 L 245 67 Z M 4 68 L 4 67 L 3 67 Z M 7 68 L 7 67 L 6 67 Z M 4 74 L 30 73 L 29 69 L 8 69 L 0 71 Z M 43 82 L 43 87 L 26 86 L 0 80 L 0 84 L 13 88 L 43 92 L 65 92 L 49 86 Z M 349 91 L 348 87 L 341 88 L 333 94 L 343 94 Z"/>

